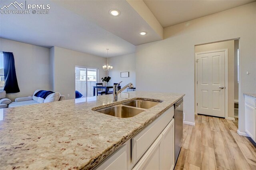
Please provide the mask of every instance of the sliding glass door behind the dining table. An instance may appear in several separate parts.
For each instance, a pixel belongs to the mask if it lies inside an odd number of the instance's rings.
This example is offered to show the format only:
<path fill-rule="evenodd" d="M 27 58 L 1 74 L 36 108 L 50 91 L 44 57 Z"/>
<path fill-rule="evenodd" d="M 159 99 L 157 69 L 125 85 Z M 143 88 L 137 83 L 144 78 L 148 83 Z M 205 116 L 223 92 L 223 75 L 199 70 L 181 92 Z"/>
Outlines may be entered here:
<path fill-rule="evenodd" d="M 93 96 L 93 86 L 98 81 L 98 69 L 77 66 L 76 71 L 76 91 L 79 91 L 83 97 Z"/>

